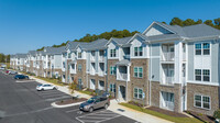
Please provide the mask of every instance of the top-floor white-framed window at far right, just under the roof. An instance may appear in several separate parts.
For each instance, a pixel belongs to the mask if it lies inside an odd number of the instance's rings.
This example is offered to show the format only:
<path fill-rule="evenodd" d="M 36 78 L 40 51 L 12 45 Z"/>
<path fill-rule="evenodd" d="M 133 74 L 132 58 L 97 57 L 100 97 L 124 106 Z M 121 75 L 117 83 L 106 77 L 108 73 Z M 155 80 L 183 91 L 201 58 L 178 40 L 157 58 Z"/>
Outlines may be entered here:
<path fill-rule="evenodd" d="M 195 44 L 196 55 L 209 55 L 210 43 Z"/>

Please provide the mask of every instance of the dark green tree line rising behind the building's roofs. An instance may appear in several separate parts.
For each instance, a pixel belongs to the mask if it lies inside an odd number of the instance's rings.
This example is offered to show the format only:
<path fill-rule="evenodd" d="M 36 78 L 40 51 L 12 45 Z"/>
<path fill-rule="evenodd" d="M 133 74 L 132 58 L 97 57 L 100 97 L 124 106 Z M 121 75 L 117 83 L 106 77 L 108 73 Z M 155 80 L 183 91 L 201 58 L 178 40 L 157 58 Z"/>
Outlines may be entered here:
<path fill-rule="evenodd" d="M 162 23 L 167 24 L 166 22 L 162 22 Z M 168 24 L 169 25 L 188 26 L 188 25 L 195 25 L 195 24 L 201 24 L 201 23 L 220 30 L 220 18 L 213 19 L 213 20 L 206 20 L 206 21 L 202 21 L 200 19 L 195 21 L 193 19 L 182 20 L 179 18 L 173 18 L 172 21 Z M 75 42 L 92 42 L 92 41 L 96 41 L 98 38 L 106 38 L 106 40 L 109 40 L 111 37 L 122 38 L 122 37 L 133 36 L 135 33 L 139 33 L 139 32 L 138 31 L 130 32 L 128 30 L 123 30 L 123 31 L 112 30 L 111 32 L 105 32 L 105 33 L 101 33 L 99 35 L 86 34 L 84 37 L 81 37 L 79 40 L 74 40 L 74 41 Z M 62 43 L 61 45 L 53 45 L 52 47 L 66 46 L 66 44 L 68 42 L 70 42 L 70 41 Z M 43 51 L 43 49 L 44 49 L 44 47 L 38 48 L 37 51 Z"/>

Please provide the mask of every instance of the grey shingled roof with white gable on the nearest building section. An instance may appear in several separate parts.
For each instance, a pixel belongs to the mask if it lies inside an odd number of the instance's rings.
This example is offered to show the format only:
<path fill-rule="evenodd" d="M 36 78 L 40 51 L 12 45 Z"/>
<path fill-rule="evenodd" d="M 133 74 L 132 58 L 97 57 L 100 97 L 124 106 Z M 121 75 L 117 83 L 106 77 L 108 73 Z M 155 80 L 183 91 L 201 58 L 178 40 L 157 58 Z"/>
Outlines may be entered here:
<path fill-rule="evenodd" d="M 173 34 L 161 34 L 161 35 L 152 35 L 146 36 L 145 33 L 153 26 L 153 24 L 157 24 L 168 31 L 172 31 Z M 164 41 L 164 40 L 176 40 L 176 38 L 195 38 L 195 37 L 207 37 L 207 36 L 218 36 L 220 35 L 220 31 L 213 29 L 206 24 L 196 24 L 189 26 L 179 26 L 179 25 L 167 25 L 161 22 L 153 22 L 143 33 L 143 36 L 150 42 L 153 41 Z"/>

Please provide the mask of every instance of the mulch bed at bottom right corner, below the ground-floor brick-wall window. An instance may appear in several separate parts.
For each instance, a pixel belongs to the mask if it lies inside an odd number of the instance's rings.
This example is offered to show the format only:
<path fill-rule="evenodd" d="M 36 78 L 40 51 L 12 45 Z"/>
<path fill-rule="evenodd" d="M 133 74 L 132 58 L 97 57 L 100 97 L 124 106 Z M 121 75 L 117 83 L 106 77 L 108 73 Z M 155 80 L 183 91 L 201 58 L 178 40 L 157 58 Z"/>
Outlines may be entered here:
<path fill-rule="evenodd" d="M 215 123 L 215 118 L 212 118 L 212 116 L 201 114 L 201 113 L 197 113 L 197 112 L 194 112 L 194 111 L 187 111 L 187 113 L 189 113 L 190 115 L 195 116 L 196 119 L 198 119 L 202 122 Z"/>

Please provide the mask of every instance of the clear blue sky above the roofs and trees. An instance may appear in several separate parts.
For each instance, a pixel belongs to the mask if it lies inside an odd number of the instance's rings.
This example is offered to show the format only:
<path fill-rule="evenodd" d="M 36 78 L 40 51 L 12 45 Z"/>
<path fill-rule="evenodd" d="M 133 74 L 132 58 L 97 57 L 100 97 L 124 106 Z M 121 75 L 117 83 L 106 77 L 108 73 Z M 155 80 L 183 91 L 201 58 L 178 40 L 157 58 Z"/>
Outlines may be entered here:
<path fill-rule="evenodd" d="M 220 18 L 220 0 L 0 0 L 0 53 L 26 53 L 87 33 L 143 32 L 174 16 Z"/>

